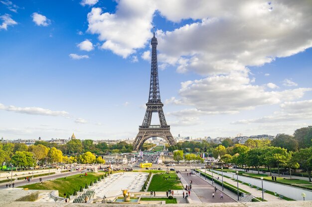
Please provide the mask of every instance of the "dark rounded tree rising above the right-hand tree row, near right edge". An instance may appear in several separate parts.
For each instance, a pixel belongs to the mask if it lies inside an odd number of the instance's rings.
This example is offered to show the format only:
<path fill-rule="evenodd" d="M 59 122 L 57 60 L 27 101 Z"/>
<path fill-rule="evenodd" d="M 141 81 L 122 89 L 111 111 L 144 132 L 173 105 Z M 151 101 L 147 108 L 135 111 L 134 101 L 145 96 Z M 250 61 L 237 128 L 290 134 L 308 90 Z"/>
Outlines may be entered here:
<path fill-rule="evenodd" d="M 271 141 L 273 146 L 285 148 L 288 151 L 298 151 L 298 141 L 290 135 L 280 134 Z"/>

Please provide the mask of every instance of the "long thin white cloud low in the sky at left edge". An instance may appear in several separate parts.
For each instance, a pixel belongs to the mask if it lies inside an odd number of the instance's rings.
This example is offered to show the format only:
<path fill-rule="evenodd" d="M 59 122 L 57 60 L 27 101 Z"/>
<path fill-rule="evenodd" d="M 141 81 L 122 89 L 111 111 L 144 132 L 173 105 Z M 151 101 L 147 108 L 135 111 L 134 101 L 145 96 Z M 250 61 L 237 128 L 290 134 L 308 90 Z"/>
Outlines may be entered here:
<path fill-rule="evenodd" d="M 44 115 L 44 116 L 68 116 L 66 111 L 52 111 L 50 109 L 43 109 L 39 107 L 16 107 L 16 106 L 5 106 L 0 103 L 0 110 L 12 111 L 21 114 L 30 115 Z"/>

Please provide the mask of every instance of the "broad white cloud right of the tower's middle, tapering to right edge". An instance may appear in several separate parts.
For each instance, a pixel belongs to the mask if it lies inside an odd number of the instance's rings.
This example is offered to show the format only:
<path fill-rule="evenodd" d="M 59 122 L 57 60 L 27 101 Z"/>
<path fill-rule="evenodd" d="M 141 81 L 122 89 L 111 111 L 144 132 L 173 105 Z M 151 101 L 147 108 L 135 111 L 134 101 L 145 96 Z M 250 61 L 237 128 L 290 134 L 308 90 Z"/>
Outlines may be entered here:
<path fill-rule="evenodd" d="M 312 88 L 296 88 L 284 91 L 266 91 L 265 86 L 253 85 L 247 72 L 231 72 L 228 75 L 181 83 L 180 99 L 171 98 L 165 103 L 189 105 L 199 111 L 237 113 L 261 105 L 279 104 L 303 97 Z"/>

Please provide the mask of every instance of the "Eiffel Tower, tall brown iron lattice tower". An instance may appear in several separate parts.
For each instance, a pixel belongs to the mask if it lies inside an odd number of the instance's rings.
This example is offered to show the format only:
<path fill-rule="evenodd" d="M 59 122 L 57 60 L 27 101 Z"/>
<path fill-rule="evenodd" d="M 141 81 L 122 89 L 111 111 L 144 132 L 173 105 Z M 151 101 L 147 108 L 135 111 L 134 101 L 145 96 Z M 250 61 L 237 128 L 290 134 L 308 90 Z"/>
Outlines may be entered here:
<path fill-rule="evenodd" d="M 167 125 L 166 119 L 162 111 L 163 104 L 160 100 L 159 82 L 158 82 L 158 67 L 157 67 L 157 38 L 152 38 L 152 66 L 151 66 L 151 84 L 149 101 L 146 104 L 147 109 L 144 116 L 142 126 L 139 126 L 139 133 L 133 143 L 133 149 L 139 151 L 143 143 L 152 137 L 159 137 L 166 140 L 169 145 L 175 144 L 175 141 L 170 133 L 170 126 Z M 151 125 L 153 112 L 158 113 L 160 125 Z"/>

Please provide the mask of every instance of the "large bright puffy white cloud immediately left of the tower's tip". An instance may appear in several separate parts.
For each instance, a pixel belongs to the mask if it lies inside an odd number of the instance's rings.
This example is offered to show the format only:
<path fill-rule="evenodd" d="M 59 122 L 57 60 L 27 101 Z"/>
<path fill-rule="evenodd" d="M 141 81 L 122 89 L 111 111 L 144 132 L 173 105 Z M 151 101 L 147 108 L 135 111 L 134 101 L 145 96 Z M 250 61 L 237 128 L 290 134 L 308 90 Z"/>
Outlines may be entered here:
<path fill-rule="evenodd" d="M 88 31 L 104 41 L 102 49 L 127 58 L 136 49 L 144 48 L 151 38 L 154 12 L 150 0 L 120 0 L 114 14 L 92 8 L 88 13 Z"/>

